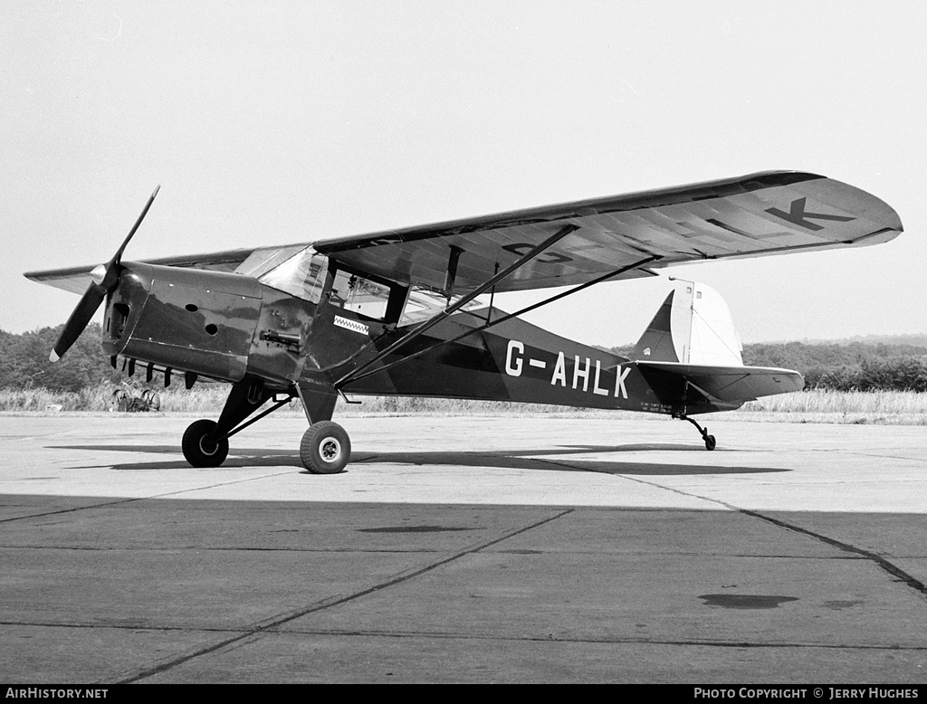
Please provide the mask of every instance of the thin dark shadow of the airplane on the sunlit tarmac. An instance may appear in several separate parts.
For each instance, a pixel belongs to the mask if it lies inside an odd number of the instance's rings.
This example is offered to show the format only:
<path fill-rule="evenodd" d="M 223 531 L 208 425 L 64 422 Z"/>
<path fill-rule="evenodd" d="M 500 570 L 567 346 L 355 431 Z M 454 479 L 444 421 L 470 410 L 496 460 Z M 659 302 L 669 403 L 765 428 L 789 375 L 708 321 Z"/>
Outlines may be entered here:
<path fill-rule="evenodd" d="M 180 458 L 180 452 L 176 446 L 122 446 L 122 445 L 71 445 L 56 446 L 57 449 L 69 450 L 86 450 L 89 452 L 141 452 L 146 455 L 173 455 L 177 459 L 158 462 L 121 462 L 118 464 L 96 464 L 73 467 L 71 469 L 97 469 L 100 467 L 110 467 L 117 471 L 158 471 L 158 470 L 178 470 L 185 469 L 194 471 L 184 459 Z M 763 474 L 769 472 L 791 471 L 775 467 L 743 467 L 743 466 L 720 466 L 720 465 L 699 465 L 699 464 L 667 464 L 664 462 L 647 462 L 626 460 L 618 461 L 616 459 L 578 459 L 571 458 L 571 455 L 589 455 L 597 456 L 607 454 L 619 454 L 626 452 L 646 453 L 667 452 L 667 451 L 685 451 L 691 453 L 704 454 L 704 449 L 698 449 L 690 445 L 622 445 L 622 446 L 553 446 L 542 449 L 518 449 L 518 450 L 485 450 L 485 451 L 402 451 L 402 452 L 353 452 L 351 454 L 351 464 L 398 464 L 413 466 L 453 466 L 453 467 L 478 467 L 478 468 L 499 468 L 514 470 L 536 470 L 536 471 L 597 471 L 606 474 L 634 474 L 639 476 L 667 476 L 667 475 L 701 475 L 701 474 Z M 240 467 L 298 467 L 300 471 L 309 473 L 303 469 L 302 462 L 297 455 L 290 451 L 280 451 L 273 449 L 242 449 L 236 448 L 229 455 L 229 458 L 222 464 L 221 469 L 234 469 Z M 346 471 L 350 471 L 351 465 L 348 465 Z M 216 471 L 211 468 L 210 471 Z"/>

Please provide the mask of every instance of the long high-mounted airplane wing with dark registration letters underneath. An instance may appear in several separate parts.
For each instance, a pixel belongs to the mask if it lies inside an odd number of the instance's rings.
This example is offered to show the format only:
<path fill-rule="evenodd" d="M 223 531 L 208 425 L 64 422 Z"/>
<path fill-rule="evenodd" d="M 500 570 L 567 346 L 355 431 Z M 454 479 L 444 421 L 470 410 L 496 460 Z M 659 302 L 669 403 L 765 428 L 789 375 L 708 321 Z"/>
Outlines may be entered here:
<path fill-rule="evenodd" d="M 552 244 L 496 283 L 495 290 L 590 283 L 609 272 L 627 279 L 705 259 L 874 245 L 901 231 L 895 210 L 854 186 L 813 173 L 765 171 L 311 244 L 344 266 L 390 281 L 451 293 L 450 275 L 453 293 L 466 294 L 545 241 Z M 257 275 L 306 245 L 146 262 Z M 92 269 L 25 276 L 80 294 Z"/>

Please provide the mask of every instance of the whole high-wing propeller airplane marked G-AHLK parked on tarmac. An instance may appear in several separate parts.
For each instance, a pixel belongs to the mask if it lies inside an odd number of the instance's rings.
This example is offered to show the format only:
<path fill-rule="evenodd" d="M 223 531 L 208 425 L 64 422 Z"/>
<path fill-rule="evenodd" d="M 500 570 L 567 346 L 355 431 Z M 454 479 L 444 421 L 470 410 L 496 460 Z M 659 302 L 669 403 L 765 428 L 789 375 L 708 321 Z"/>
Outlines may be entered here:
<path fill-rule="evenodd" d="M 121 357 L 130 374 L 144 369 L 150 382 L 157 372 L 165 386 L 173 375 L 187 388 L 231 384 L 218 421 L 184 433 L 191 465 L 221 465 L 232 435 L 298 397 L 310 424 L 299 456 L 323 474 L 350 459 L 349 436 L 331 420 L 348 393 L 663 413 L 692 422 L 714 449 L 692 416 L 804 385 L 796 371 L 743 366 L 714 291 L 677 283 L 630 358 L 517 316 L 673 265 L 875 245 L 902 231 L 895 210 L 853 186 L 766 171 L 301 245 L 123 261 L 157 194 L 107 264 L 25 274 L 83 293 L 51 358 L 106 301 L 102 345 L 114 367 Z M 492 305 L 496 293 L 555 286 L 572 288 L 512 314 Z"/>

